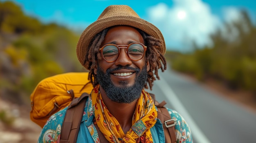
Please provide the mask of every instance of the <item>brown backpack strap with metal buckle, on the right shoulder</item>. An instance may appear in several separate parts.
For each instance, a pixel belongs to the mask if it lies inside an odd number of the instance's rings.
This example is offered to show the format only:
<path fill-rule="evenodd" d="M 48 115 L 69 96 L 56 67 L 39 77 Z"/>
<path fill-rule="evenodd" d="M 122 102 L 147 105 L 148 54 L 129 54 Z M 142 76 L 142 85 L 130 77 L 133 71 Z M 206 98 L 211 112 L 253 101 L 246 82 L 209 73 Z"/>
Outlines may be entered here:
<path fill-rule="evenodd" d="M 155 106 L 157 107 L 157 118 L 160 119 L 163 124 L 165 143 L 176 143 L 177 141 L 175 135 L 175 120 L 171 119 L 171 115 L 164 107 L 166 102 L 162 101 L 161 103 L 158 103 L 155 100 L 154 94 L 149 93 L 149 95 L 153 98 Z"/>

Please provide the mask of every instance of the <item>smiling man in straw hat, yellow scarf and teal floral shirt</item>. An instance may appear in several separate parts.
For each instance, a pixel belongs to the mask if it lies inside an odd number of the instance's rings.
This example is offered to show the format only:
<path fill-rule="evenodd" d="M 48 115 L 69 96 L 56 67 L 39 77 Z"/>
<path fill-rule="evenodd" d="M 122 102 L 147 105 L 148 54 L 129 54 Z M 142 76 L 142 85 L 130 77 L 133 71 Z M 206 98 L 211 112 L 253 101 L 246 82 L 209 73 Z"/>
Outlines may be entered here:
<path fill-rule="evenodd" d="M 159 29 L 130 7 L 112 5 L 83 31 L 76 50 L 94 86 L 76 143 L 99 143 L 100 133 L 111 143 L 164 143 L 153 99 L 143 89 L 152 89 L 155 76 L 159 79 L 158 69 L 166 69 L 166 48 Z M 66 110 L 48 119 L 39 143 L 59 142 Z M 193 142 L 180 114 L 168 111 L 176 120 L 177 143 Z"/>

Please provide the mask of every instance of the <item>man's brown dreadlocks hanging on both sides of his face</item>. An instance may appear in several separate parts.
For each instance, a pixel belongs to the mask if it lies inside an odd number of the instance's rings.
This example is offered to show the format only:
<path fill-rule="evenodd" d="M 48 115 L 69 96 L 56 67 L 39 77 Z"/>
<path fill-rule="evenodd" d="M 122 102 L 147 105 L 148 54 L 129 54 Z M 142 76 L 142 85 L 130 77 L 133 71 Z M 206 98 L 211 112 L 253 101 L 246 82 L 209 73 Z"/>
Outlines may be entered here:
<path fill-rule="evenodd" d="M 85 55 L 85 61 L 83 64 L 89 65 L 88 67 L 85 67 L 85 68 L 90 70 L 88 79 L 91 81 L 93 87 L 99 84 L 94 74 L 94 68 L 95 66 L 97 66 L 97 59 L 100 59 L 100 60 L 102 59 L 101 53 L 99 52 L 99 48 L 100 48 L 99 46 L 101 46 L 101 43 L 103 42 L 109 29 L 110 28 L 104 29 L 103 31 L 95 35 L 95 37 L 92 39 L 90 43 L 88 53 L 87 55 Z M 164 55 L 162 55 L 162 53 L 160 53 L 157 50 L 162 46 L 161 41 L 159 39 L 156 39 L 155 37 L 148 35 L 144 31 L 141 31 L 140 29 L 137 29 L 137 30 L 142 35 L 145 42 L 145 46 L 147 46 L 146 62 L 149 62 L 150 64 L 150 69 L 148 71 L 148 79 L 144 87 L 148 88 L 149 86 L 150 90 L 152 90 L 153 81 L 155 81 L 156 78 L 160 79 L 158 75 L 158 69 L 161 68 L 162 72 L 166 70 L 166 59 Z M 162 64 L 160 61 L 162 61 Z M 155 72 L 153 73 L 154 70 Z M 154 74 L 156 77 L 154 76 Z"/>

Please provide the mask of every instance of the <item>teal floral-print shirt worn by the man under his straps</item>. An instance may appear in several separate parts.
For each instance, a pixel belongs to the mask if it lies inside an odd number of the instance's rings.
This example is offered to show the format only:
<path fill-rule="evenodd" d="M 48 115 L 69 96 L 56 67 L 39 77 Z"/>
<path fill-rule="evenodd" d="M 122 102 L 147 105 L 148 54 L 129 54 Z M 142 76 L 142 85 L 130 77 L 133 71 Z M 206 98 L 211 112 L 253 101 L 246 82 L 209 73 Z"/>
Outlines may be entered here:
<path fill-rule="evenodd" d="M 38 143 L 57 143 L 60 140 L 61 126 L 65 117 L 67 108 L 52 115 L 45 123 Z M 175 119 L 175 133 L 177 143 L 193 143 L 191 130 L 183 117 L 175 110 L 168 109 L 171 118 Z M 83 112 L 83 118 L 76 143 L 100 143 L 97 129 L 94 126 L 94 112 L 92 109 L 92 99 L 88 98 Z M 159 119 L 155 125 L 150 128 L 154 143 L 164 143 L 164 129 Z M 91 135 L 92 134 L 92 135 Z"/>

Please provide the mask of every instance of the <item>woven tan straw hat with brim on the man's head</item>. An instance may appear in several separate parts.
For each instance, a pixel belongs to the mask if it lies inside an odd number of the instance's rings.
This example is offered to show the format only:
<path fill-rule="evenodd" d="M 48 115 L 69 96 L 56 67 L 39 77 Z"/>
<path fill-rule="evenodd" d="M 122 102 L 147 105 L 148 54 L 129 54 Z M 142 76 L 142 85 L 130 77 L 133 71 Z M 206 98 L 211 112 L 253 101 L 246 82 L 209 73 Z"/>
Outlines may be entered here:
<path fill-rule="evenodd" d="M 101 13 L 101 15 L 99 15 L 99 18 L 95 22 L 90 24 L 83 31 L 79 38 L 76 46 L 76 54 L 82 65 L 84 63 L 85 55 L 88 52 L 88 47 L 92 38 L 104 29 L 116 25 L 133 26 L 141 29 L 148 35 L 160 39 L 163 46 L 158 50 L 162 54 L 165 54 L 166 47 L 164 43 L 164 37 L 161 31 L 155 25 L 139 18 L 139 15 L 127 5 L 110 5 Z M 89 65 L 83 66 L 87 69 L 89 68 Z"/>

